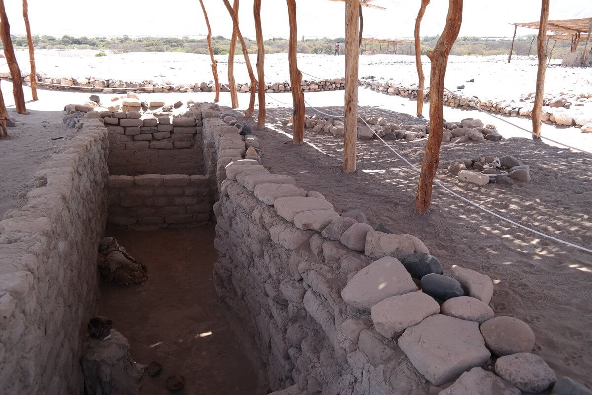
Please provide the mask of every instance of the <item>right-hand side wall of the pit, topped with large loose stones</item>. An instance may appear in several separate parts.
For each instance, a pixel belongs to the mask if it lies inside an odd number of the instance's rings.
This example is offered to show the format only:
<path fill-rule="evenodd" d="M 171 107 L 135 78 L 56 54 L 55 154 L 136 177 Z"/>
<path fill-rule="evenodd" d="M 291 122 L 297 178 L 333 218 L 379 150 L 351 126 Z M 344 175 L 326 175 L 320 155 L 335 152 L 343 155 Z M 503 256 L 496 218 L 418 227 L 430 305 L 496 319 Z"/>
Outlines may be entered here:
<path fill-rule="evenodd" d="M 459 266 L 442 275 L 417 237 L 340 216 L 270 174 L 256 137 L 226 125 L 232 114 L 204 118 L 220 195 L 214 285 L 252 334 L 273 394 L 519 394 L 556 381 L 531 353 L 532 329 L 494 318 L 491 278 Z"/>

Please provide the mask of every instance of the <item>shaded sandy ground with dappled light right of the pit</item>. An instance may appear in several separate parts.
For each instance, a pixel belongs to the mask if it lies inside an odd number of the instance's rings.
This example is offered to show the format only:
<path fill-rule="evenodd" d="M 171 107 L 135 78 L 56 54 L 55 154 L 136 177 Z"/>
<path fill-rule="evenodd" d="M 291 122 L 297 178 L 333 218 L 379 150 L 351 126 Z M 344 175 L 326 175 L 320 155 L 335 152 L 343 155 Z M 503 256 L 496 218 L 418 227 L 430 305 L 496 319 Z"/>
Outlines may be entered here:
<path fill-rule="evenodd" d="M 329 114 L 343 108 L 321 107 Z M 379 140 L 358 141 L 358 169 L 343 174 L 343 137 L 305 131 L 305 143 L 291 142 L 291 108 L 268 108 L 268 128 L 256 130 L 255 117 L 240 118 L 259 137 L 263 165 L 293 176 L 306 190 L 321 192 L 340 213 L 358 209 L 374 226 L 411 233 L 426 243 L 449 275 L 459 265 L 490 275 L 496 316 L 512 316 L 532 326 L 535 353 L 559 377 L 592 386 L 592 265 L 590 255 L 496 219 L 435 187 L 432 208 L 414 213 L 419 174 Z M 316 114 L 307 107 L 307 114 Z M 424 123 L 408 114 L 361 107 L 364 116 L 392 123 Z M 323 117 L 324 115 L 319 116 Z M 461 119 L 449 119 L 460 121 Z M 504 124 L 494 123 L 500 130 Z M 421 166 L 427 139 L 389 143 Z M 446 170 L 452 160 L 509 154 L 530 166 L 532 180 L 510 187 L 464 183 Z M 452 190 L 503 216 L 578 245 L 592 246 L 592 158 L 548 146 L 540 140 L 442 144 L 437 176 Z"/>

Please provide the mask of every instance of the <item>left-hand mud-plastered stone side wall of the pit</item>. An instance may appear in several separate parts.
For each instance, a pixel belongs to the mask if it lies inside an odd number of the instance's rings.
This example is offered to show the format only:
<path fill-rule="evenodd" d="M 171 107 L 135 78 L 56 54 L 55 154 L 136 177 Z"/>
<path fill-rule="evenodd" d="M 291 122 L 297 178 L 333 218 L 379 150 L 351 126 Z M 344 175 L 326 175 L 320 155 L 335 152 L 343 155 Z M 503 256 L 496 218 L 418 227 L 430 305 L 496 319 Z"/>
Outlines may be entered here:
<path fill-rule="evenodd" d="M 0 393 L 82 393 L 82 334 L 98 297 L 107 130 L 89 120 L 0 222 Z"/>

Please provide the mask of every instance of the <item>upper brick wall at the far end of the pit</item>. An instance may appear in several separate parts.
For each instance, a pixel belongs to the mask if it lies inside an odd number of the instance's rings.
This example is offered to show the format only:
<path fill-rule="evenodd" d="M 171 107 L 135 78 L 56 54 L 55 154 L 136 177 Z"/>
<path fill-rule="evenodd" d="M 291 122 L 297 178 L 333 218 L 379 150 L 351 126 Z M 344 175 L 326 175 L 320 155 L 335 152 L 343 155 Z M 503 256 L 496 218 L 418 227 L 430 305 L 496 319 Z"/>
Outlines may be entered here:
<path fill-rule="evenodd" d="M 201 118 L 89 111 L 109 133 L 109 174 L 203 174 Z"/>

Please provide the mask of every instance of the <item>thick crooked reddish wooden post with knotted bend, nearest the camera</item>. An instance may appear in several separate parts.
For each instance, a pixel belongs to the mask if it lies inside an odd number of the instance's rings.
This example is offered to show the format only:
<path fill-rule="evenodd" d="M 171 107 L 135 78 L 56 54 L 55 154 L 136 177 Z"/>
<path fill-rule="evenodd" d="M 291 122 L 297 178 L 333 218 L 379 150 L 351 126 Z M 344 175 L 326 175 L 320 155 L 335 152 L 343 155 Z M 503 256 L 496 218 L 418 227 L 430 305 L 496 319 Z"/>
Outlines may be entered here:
<path fill-rule="evenodd" d="M 449 0 L 448 16 L 446 17 L 446 25 L 442 31 L 442 36 L 438 38 L 434 50 L 427 53 L 427 56 L 432 60 L 432 69 L 430 71 L 430 134 L 423 155 L 422 173 L 419 178 L 415 201 L 415 211 L 420 214 L 427 213 L 432 200 L 432 184 L 438 167 L 440 144 L 442 144 L 444 77 L 448 65 L 448 56 L 456 37 L 458 37 L 461 22 L 462 0 Z"/>

